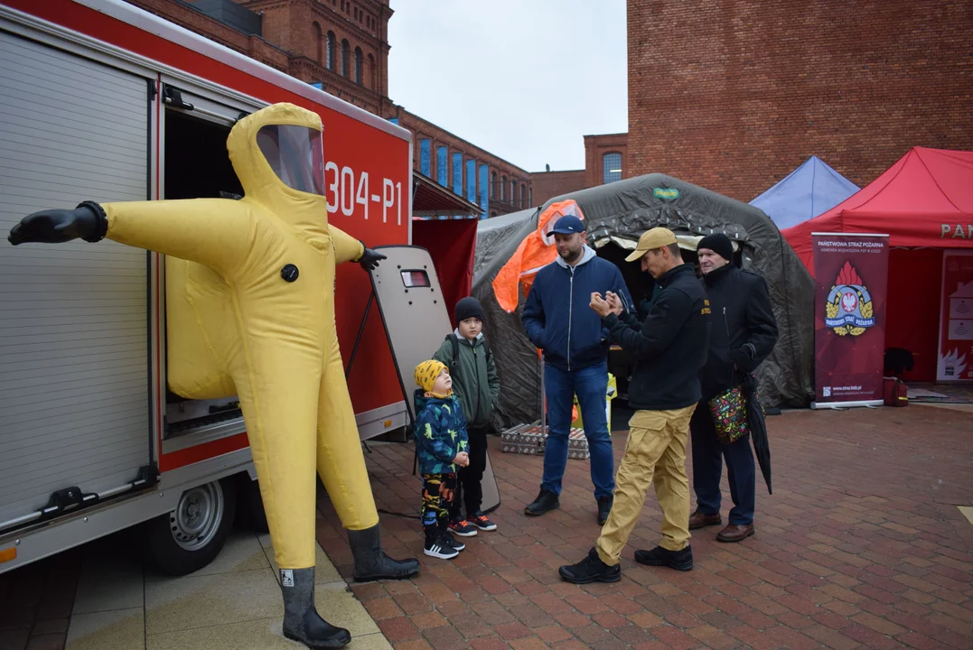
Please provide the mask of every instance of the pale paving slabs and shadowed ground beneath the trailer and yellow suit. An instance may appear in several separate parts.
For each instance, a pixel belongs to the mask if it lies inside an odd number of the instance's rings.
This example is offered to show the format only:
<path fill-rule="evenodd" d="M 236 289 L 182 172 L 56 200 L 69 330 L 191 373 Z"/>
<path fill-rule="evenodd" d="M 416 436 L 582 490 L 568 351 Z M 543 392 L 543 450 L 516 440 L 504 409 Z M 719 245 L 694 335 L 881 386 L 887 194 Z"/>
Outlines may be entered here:
<path fill-rule="evenodd" d="M 0 576 L 0 650 L 289 650 L 270 535 L 235 530 L 220 555 L 173 578 L 143 565 L 127 530 Z M 359 650 L 389 648 L 319 548 L 315 600 Z"/>

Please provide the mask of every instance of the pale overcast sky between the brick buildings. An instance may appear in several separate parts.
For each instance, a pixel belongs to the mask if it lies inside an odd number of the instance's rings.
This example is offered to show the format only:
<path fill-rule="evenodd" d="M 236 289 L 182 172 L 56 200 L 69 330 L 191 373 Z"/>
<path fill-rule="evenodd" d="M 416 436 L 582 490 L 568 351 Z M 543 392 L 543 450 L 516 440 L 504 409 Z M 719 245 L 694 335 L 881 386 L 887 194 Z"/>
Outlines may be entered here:
<path fill-rule="evenodd" d="M 625 0 L 391 0 L 396 104 L 530 172 L 628 131 Z"/>

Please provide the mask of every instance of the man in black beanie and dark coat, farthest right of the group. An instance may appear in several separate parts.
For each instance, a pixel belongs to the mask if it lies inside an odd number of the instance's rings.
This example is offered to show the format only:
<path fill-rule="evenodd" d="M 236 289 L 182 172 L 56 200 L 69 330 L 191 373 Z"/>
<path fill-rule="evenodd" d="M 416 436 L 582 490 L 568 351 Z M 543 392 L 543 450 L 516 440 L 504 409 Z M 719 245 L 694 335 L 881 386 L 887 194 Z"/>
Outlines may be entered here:
<path fill-rule="evenodd" d="M 696 511 L 690 530 L 719 526 L 720 475 L 723 459 L 734 507 L 730 523 L 716 538 L 738 542 L 753 534 L 756 471 L 750 436 L 723 444 L 716 436 L 709 400 L 743 382 L 774 350 L 777 324 L 767 283 L 759 275 L 734 266 L 733 244 L 724 234 L 703 237 L 697 248 L 703 269 L 703 285 L 713 310 L 709 356 L 700 375 L 703 397 L 693 415 L 693 489 Z"/>

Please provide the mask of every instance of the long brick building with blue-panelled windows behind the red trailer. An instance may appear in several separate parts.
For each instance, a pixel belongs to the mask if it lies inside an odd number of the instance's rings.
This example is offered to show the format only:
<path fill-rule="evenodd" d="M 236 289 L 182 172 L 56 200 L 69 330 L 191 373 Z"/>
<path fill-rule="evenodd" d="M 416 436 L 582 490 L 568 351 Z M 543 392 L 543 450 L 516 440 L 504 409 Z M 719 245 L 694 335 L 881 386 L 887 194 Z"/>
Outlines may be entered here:
<path fill-rule="evenodd" d="M 425 194 L 439 198 L 426 213 L 479 208 L 496 216 L 529 207 L 525 170 L 388 97 L 389 0 L 127 1 L 411 130 L 415 171 L 440 186 Z"/>

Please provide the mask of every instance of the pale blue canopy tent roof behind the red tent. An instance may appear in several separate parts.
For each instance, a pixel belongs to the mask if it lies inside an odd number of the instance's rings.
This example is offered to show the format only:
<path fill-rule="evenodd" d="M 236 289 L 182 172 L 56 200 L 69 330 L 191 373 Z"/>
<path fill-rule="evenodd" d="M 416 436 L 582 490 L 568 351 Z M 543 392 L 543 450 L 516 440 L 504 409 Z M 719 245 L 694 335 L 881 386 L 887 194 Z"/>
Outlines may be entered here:
<path fill-rule="evenodd" d="M 781 230 L 806 222 L 835 207 L 858 186 L 812 155 L 750 205 L 763 210 Z"/>

